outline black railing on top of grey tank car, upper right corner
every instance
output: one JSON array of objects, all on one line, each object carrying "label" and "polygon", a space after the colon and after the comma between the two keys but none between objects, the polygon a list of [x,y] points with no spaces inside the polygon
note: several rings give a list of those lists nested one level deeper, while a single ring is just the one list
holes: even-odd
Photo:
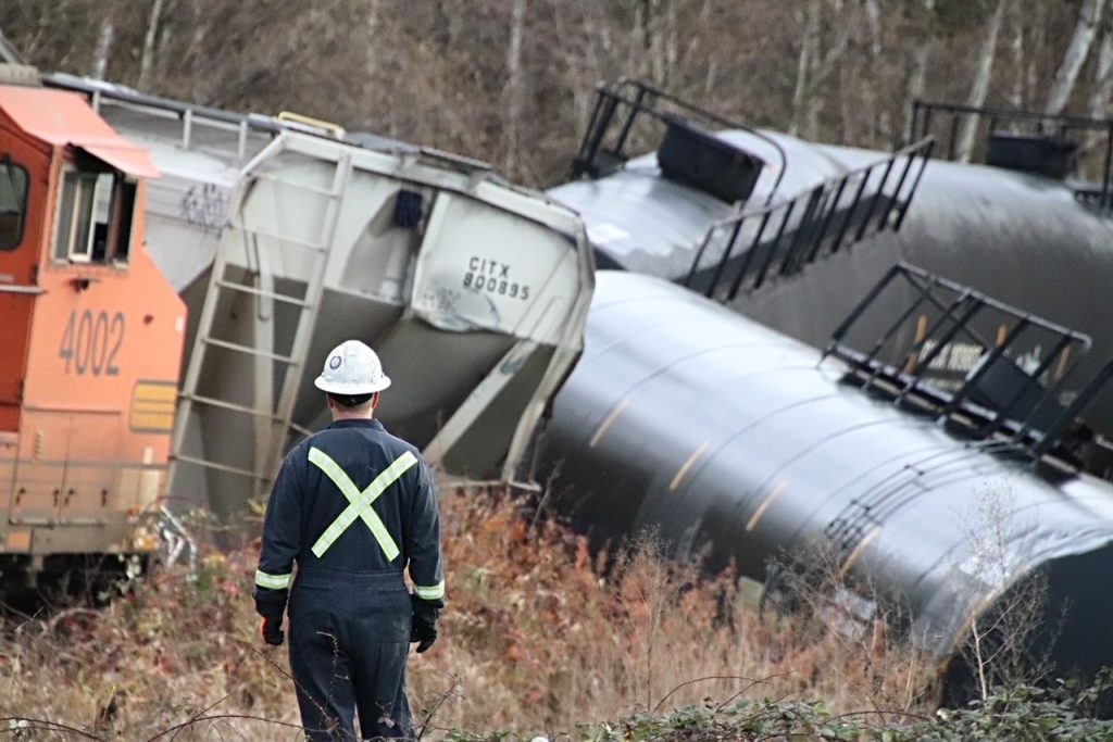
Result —
[{"label": "black railing on top of grey tank car, upper right corner", "polygon": [[[949,126],[947,130],[945,159],[956,160],[959,152],[956,151],[958,140],[959,119],[962,117],[974,117],[988,121],[989,135],[993,136],[999,125],[1034,125],[1035,133],[1047,136],[1053,132],[1060,139],[1066,139],[1077,144],[1072,133],[1078,131],[1093,131],[1103,135],[1104,154],[1102,157],[1102,180],[1097,192],[1085,189],[1075,189],[1075,197],[1083,204],[1094,206],[1102,210],[1113,209],[1113,120],[1094,118],[1089,116],[1071,116],[1063,113],[1045,113],[1016,108],[994,108],[987,106],[968,106],[964,103],[947,103],[916,99],[913,101],[912,119],[908,127],[909,140],[927,136],[932,131],[932,115],[940,112],[948,115]],[[988,158],[987,158],[988,159]],[[1071,166],[1074,169],[1076,162],[1064,160],[1058,164]]]}]

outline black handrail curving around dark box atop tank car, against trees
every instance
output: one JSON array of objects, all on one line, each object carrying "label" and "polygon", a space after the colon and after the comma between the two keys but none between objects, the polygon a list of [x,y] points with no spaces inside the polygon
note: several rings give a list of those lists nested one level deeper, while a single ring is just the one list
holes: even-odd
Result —
[{"label": "black handrail curving around dark box atop tank car, against trees", "polygon": [[[624,95],[623,91],[627,88],[632,89],[633,92],[631,96]],[[595,106],[591,111],[591,119],[588,128],[584,130],[583,139],[580,141],[579,152],[572,160],[570,177],[575,179],[584,174],[592,177],[598,176],[600,174],[598,162],[600,155],[605,156],[607,160],[611,162],[627,161],[629,159],[629,155],[626,152],[627,140],[630,137],[630,131],[638,115],[646,113],[662,123],[669,123],[670,115],[662,112],[658,108],[658,103],[661,101],[671,103],[688,113],[696,115],[705,122],[725,129],[740,129],[746,131],[772,147],[780,160],[777,169],[777,178],[774,180],[772,188],[766,197],[766,204],[772,200],[777,189],[780,188],[785,171],[788,169],[788,156],[785,152],[785,148],[776,139],[745,123],[739,123],[738,121],[713,113],[706,108],[678,98],[648,82],[632,78],[619,78],[613,85],[601,82],[595,87]],[[603,147],[603,140],[607,138],[607,133],[611,128],[611,122],[614,120],[620,105],[629,108],[629,111],[614,146],[608,149]]]}]

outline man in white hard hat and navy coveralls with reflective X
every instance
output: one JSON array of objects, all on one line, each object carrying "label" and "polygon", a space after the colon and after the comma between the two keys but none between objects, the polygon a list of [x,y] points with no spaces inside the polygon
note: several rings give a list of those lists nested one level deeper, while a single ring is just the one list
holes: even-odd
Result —
[{"label": "man in white hard hat and navy coveralls with reflective X", "polygon": [[410,739],[406,654],[411,642],[418,653],[433,644],[444,606],[436,492],[417,449],[374,419],[391,379],[370,347],[341,344],[314,384],[333,424],[287,454],[267,503],[255,573],[263,639],[283,643],[288,593],[311,740],[357,739],[356,710],[362,739]]}]

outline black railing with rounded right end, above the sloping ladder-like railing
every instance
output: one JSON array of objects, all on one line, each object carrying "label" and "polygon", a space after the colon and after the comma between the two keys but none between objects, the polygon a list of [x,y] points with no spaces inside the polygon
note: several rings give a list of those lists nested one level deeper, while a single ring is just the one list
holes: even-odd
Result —
[{"label": "black railing with rounded right end, above the sloping ladder-like railing", "polygon": [[[647,82],[630,79],[597,88],[591,121],[572,160],[571,178],[595,178],[620,167],[632,154],[658,149],[664,135],[662,127],[667,128],[678,118],[707,128],[746,131],[769,145],[779,159],[777,178],[766,200],[772,199],[787,166],[785,150],[776,139]],[[644,123],[650,125],[648,129],[642,126]],[[634,151],[631,154],[631,150]]]}]

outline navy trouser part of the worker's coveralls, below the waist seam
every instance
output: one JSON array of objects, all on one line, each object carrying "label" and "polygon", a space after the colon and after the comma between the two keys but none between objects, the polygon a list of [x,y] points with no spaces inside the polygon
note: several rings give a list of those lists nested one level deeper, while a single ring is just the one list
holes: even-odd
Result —
[{"label": "navy trouser part of the worker's coveralls, below the waist seam", "polygon": [[365,740],[411,733],[410,621],[410,592],[398,572],[298,572],[289,596],[289,664],[311,740],[354,739],[345,719],[353,706]]}]

